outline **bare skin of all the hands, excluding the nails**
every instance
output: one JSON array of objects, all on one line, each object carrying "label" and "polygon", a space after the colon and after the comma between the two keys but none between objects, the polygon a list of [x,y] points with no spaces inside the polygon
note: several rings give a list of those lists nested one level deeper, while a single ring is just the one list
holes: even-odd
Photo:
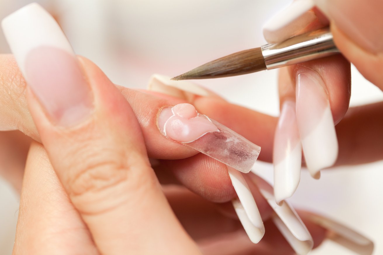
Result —
[{"label": "bare skin of all the hands, excluding the nails", "polygon": [[[382,55],[363,49],[331,17],[330,24],[343,55],[382,89],[381,73],[376,71],[383,68]],[[186,100],[116,87],[89,60],[79,60],[97,98],[97,109],[103,110],[96,110],[79,126],[62,130],[52,124],[27,89],[13,57],[0,56],[0,102],[6,106],[0,108],[0,128],[22,132],[11,131],[0,136],[1,141],[6,141],[0,143],[3,150],[8,148],[7,144],[15,145],[13,151],[8,151],[8,160],[2,163],[9,169],[5,176],[15,187],[20,187],[23,182],[14,254],[26,251],[28,254],[125,254],[128,250],[139,254],[153,254],[155,250],[158,254],[161,249],[171,249],[175,253],[182,250],[182,254],[186,254],[185,247],[190,254],[198,254],[197,245],[204,254],[293,254],[268,220],[271,210],[257,195],[256,189],[254,197],[268,231],[255,246],[241,230],[232,208],[225,203],[235,197],[225,167],[167,140],[156,125],[157,112],[162,106],[190,102],[199,112],[260,145],[260,159],[270,162],[277,118],[217,97],[188,96]],[[348,109],[349,62],[336,56],[284,68],[279,80],[281,102],[295,96],[294,77],[301,68],[317,71],[326,83],[334,122],[337,123],[339,158],[336,164],[361,164],[382,159],[383,104]],[[121,122],[115,123],[116,119]],[[37,128],[34,123],[38,123]],[[111,129],[105,123],[115,123],[116,128]],[[254,132],[254,128],[258,132]],[[89,134],[89,130],[95,131]],[[129,132],[138,135],[131,137],[127,135]],[[68,142],[83,137],[84,133],[87,136],[81,140],[82,143]],[[100,133],[108,135],[100,137]],[[112,139],[109,134],[113,134]],[[34,140],[32,144],[31,140]],[[61,145],[59,149],[55,146],[57,144]],[[110,151],[101,153],[105,148]],[[79,152],[76,157],[72,156],[73,151]],[[96,157],[98,162],[89,162],[85,156],[87,153],[100,155]],[[160,159],[154,171],[148,157]],[[99,167],[91,167],[95,165]],[[206,172],[207,167],[214,171]],[[117,169],[123,169],[133,177],[121,179]],[[90,179],[82,182],[76,179],[76,176],[85,176],[78,175],[80,172],[95,175],[89,174]],[[97,182],[98,177],[106,172],[110,174],[108,178]],[[199,196],[185,188],[165,189],[162,193],[154,173],[163,182],[183,184]],[[192,210],[182,211],[180,201],[196,205],[193,208],[199,208],[201,217],[196,219],[196,213],[190,213]],[[156,213],[148,224],[144,216],[152,216],[153,211]],[[315,245],[319,245],[326,230],[310,223],[304,212],[301,217],[313,235]],[[166,238],[162,226],[166,226]],[[222,235],[223,232],[226,234]],[[134,242],[127,241],[133,239],[132,235]],[[147,247],[147,238],[153,241],[151,247]],[[277,250],[276,244],[280,247]],[[230,247],[241,247],[242,250],[231,250]]]}]

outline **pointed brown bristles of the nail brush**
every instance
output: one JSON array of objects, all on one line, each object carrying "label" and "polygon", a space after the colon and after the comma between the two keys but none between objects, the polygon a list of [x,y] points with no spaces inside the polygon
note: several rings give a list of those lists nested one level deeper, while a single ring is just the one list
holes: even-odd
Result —
[{"label": "pointed brown bristles of the nail brush", "polygon": [[261,48],[242,50],[194,68],[172,80],[221,78],[266,69]]}]

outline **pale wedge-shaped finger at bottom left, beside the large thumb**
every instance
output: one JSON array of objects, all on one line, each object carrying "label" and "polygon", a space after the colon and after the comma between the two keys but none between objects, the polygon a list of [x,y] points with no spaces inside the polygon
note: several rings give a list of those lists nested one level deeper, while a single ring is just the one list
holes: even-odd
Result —
[{"label": "pale wedge-shaped finger at bottom left, beside the large thumb", "polygon": [[32,143],[25,167],[13,254],[99,254],[49,162]]}]

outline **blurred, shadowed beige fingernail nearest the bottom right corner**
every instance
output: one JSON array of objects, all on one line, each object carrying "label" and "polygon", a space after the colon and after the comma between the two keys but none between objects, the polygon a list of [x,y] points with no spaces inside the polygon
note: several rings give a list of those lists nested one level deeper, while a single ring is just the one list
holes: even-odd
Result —
[{"label": "blurred, shadowed beige fingernail nearest the bottom right corner", "polygon": [[309,213],[309,219],[328,230],[327,239],[336,242],[345,248],[352,250],[360,255],[370,255],[374,250],[374,243],[367,237],[350,229],[343,224],[329,218]]}]

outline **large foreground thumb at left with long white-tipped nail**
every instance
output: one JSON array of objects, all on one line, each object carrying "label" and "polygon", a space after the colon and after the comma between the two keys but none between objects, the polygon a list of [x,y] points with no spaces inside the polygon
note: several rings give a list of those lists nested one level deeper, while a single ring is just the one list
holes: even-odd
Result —
[{"label": "large foreground thumb at left with long white-tipped nail", "polygon": [[198,254],[155,179],[141,128],[118,89],[95,65],[77,62],[39,5],[8,16],[3,30],[27,78],[28,106],[49,159],[99,252]]}]

